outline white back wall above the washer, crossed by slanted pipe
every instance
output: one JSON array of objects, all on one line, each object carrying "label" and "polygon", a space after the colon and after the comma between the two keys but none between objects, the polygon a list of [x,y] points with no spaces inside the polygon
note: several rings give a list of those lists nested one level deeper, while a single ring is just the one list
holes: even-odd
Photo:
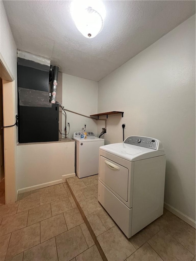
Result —
[{"label": "white back wall above the washer, crossed by slanted pipe", "polygon": [[[62,105],[65,109],[89,116],[97,113],[98,83],[80,77],[62,74]],[[67,122],[70,123],[69,138],[76,131],[81,131],[86,124],[86,130],[97,135],[97,121],[66,112]],[[62,130],[65,129],[65,114],[62,113]],[[69,128],[67,127],[67,132]],[[63,135],[64,137],[64,135]]]}]

